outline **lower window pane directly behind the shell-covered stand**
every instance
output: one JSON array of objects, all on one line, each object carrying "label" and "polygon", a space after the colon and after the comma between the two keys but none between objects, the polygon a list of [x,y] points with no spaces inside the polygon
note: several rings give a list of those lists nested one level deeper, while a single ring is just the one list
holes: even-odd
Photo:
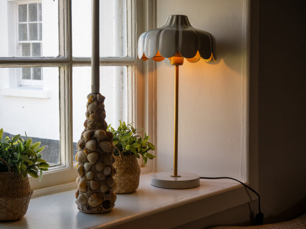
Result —
[{"label": "lower window pane directly behind the shell-covered stand", "polygon": [[[86,119],[86,96],[91,93],[91,67],[73,67],[72,78],[72,111],[73,111],[73,155],[77,149]],[[118,120],[127,122],[127,67],[101,66],[100,92],[105,96],[105,121],[112,126],[118,126]],[[75,158],[73,157],[74,162]]]}]

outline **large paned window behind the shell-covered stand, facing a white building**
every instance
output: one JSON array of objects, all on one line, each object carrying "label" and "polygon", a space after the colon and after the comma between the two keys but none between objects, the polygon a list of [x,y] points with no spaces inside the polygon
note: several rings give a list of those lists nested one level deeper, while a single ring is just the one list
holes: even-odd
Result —
[{"label": "large paned window behind the shell-covered stand, facing a white building", "polygon": [[[100,92],[114,126],[118,119],[142,123],[135,15],[136,0],[100,0]],[[0,106],[9,107],[0,111],[0,127],[47,145],[43,155],[53,167],[40,183],[30,177],[33,189],[72,182],[91,93],[91,2],[3,0],[0,28]]]}]

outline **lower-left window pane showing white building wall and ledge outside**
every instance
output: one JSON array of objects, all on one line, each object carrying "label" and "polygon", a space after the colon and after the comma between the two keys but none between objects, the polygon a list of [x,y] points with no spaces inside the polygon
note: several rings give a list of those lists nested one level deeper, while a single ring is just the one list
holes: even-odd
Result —
[{"label": "lower-left window pane showing white building wall and ledge outside", "polygon": [[[27,89],[23,87],[16,89],[12,78],[20,68],[0,68],[0,106],[7,108],[1,113],[0,127],[5,132],[4,136],[21,134],[23,139],[26,131],[33,142],[40,141],[41,146],[47,146],[42,151],[42,158],[51,165],[57,165],[60,161],[58,68],[42,67],[42,70],[46,82],[43,90],[49,91],[47,99],[27,97],[29,96]],[[18,96],[8,96],[3,93],[3,89],[9,87],[20,90]],[[32,94],[32,96],[37,95]],[[12,120],[14,125],[8,120]]]}]

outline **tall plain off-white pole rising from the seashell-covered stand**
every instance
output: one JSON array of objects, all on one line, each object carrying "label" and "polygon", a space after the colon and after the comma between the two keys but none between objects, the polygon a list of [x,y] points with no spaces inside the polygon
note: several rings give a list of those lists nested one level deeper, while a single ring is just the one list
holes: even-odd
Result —
[{"label": "tall plain off-white pole rising from the seashell-covered stand", "polygon": [[99,93],[99,0],[91,1],[91,93]]}]

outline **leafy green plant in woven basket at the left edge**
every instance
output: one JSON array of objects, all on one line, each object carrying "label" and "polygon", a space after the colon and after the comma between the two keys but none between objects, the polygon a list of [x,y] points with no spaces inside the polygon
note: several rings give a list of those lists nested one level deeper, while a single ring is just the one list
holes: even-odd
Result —
[{"label": "leafy green plant in woven basket at the left edge", "polygon": [[40,142],[32,143],[31,138],[23,140],[20,134],[2,139],[0,129],[0,221],[20,220],[27,212],[33,194],[28,174],[40,180],[49,165],[41,159]]}]

